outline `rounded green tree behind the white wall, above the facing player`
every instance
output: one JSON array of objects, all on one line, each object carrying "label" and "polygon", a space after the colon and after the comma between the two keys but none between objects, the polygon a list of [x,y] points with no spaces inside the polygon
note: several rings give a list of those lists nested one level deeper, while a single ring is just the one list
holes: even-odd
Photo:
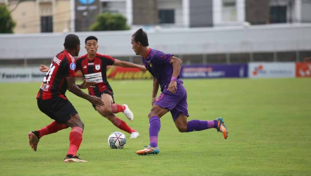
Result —
[{"label": "rounded green tree behind the white wall, above the facing player", "polygon": [[90,30],[129,30],[130,27],[126,21],[126,17],[122,14],[105,12],[97,16],[96,22],[90,26]]}]

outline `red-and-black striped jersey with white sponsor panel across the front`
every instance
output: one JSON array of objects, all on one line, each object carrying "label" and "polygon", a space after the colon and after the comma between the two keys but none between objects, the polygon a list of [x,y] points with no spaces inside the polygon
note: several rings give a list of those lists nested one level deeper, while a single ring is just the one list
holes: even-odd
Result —
[{"label": "red-and-black striped jersey with white sponsor panel across the front", "polygon": [[90,95],[100,97],[104,90],[112,92],[107,81],[107,66],[114,64],[114,58],[96,53],[95,58],[90,60],[87,54],[77,58],[76,71],[81,70],[86,81],[97,82],[95,87],[88,88]]}]

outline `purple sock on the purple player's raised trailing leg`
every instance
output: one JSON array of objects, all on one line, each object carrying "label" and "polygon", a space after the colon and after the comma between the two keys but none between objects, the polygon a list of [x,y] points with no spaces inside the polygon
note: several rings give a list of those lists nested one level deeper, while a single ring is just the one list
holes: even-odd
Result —
[{"label": "purple sock on the purple player's raised trailing leg", "polygon": [[216,120],[210,120],[210,121],[191,120],[187,123],[186,132],[201,131],[201,130],[205,130],[208,128],[217,128],[217,121]]}]

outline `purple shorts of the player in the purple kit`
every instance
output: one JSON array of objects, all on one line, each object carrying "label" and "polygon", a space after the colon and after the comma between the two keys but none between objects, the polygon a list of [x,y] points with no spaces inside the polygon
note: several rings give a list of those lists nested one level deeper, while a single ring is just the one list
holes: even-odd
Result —
[{"label": "purple shorts of the player in the purple kit", "polygon": [[180,114],[184,114],[189,117],[188,114],[188,104],[187,104],[187,91],[182,84],[177,84],[176,93],[171,93],[165,90],[160,94],[156,99],[155,104],[160,106],[163,109],[168,109],[173,117],[173,120],[178,118]]}]

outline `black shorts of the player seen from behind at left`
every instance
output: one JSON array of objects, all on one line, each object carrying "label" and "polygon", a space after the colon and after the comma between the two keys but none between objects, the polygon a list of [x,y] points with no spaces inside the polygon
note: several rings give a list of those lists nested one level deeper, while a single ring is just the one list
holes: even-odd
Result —
[{"label": "black shorts of the player seen from behind at left", "polygon": [[49,100],[37,99],[39,109],[57,123],[66,123],[71,117],[78,112],[69,100],[62,97],[56,97]]}]

